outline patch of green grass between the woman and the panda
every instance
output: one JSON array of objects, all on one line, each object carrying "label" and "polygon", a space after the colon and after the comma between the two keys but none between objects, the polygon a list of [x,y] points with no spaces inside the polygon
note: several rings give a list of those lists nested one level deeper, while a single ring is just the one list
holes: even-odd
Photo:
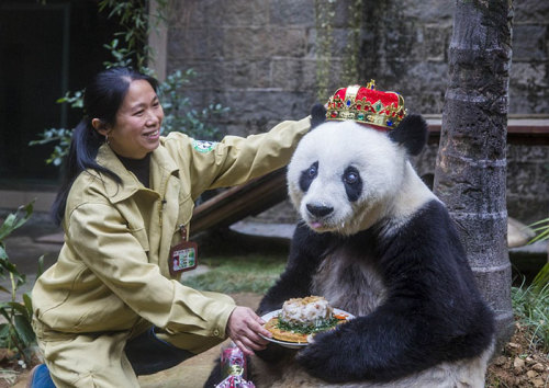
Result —
[{"label": "patch of green grass between the woman and the panda", "polygon": [[201,263],[210,271],[195,276],[183,275],[182,282],[195,289],[223,294],[265,294],[278,279],[285,260],[285,255],[211,256]]}]

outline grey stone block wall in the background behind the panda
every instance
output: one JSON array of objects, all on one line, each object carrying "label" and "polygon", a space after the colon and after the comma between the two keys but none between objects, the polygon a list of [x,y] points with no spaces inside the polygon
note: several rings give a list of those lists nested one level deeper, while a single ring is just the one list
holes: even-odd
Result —
[{"label": "grey stone block wall in the background behind the panda", "polygon": [[[328,1],[321,1],[324,5]],[[351,3],[334,5],[328,90],[343,87],[352,31]],[[452,32],[452,0],[363,1],[355,82],[376,79],[381,90],[404,95],[412,112],[441,114]],[[549,2],[516,0],[509,114],[549,113]],[[195,106],[220,102],[231,113],[219,125],[233,135],[268,130],[301,118],[316,101],[314,0],[180,0],[168,28],[168,73],[193,68],[187,94]],[[416,160],[434,172],[437,146]],[[509,145],[508,213],[524,222],[549,214],[549,148]],[[281,216],[283,214],[284,216]],[[293,221],[288,204],[264,217]]]}]

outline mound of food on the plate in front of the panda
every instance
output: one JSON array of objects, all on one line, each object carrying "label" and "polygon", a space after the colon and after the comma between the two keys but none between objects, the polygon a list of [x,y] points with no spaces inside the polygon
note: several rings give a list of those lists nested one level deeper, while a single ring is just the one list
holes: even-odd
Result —
[{"label": "mound of food on the plate in front of the panda", "polygon": [[276,340],[306,343],[310,335],[334,329],[347,318],[345,312],[335,315],[324,297],[307,296],[284,301],[280,313],[267,321],[265,328]]}]

